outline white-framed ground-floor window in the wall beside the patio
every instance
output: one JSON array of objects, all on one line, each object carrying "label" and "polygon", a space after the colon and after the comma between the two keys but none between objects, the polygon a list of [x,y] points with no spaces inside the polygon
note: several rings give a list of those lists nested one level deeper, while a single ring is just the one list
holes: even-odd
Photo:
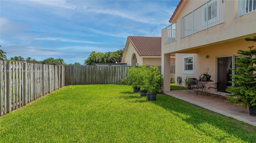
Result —
[{"label": "white-framed ground-floor window in the wall beside the patio", "polygon": [[194,74],[194,54],[183,56],[183,73]]}]

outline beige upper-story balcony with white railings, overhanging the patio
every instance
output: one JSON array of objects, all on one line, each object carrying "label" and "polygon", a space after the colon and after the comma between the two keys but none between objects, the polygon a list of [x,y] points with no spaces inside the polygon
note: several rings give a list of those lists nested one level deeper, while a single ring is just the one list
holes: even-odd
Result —
[{"label": "beige upper-story balcony with white railings, overhanging the patio", "polygon": [[[173,23],[162,29],[162,53],[195,53],[199,48],[255,36],[256,0],[210,0],[201,4],[182,9],[187,14],[177,13]],[[244,6],[248,11],[239,16]]]}]

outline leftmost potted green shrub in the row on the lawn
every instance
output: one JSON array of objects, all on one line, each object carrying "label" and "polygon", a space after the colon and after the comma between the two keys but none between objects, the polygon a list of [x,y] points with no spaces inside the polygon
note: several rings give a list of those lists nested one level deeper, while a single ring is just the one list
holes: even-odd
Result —
[{"label": "leftmost potted green shrub in the row on the lawn", "polygon": [[139,92],[140,84],[139,84],[139,70],[135,66],[128,68],[127,78],[130,80],[129,85],[132,85],[133,92]]}]

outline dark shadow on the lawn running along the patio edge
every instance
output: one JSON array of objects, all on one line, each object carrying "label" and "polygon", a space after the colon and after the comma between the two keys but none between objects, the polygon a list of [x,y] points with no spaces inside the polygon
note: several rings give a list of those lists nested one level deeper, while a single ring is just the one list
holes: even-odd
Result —
[{"label": "dark shadow on the lawn running along the patio edge", "polygon": [[[227,141],[232,135],[243,141],[255,141],[256,127],[237,121],[236,119],[220,115],[165,94],[158,94],[157,100],[152,103],[168,110],[171,114],[176,115],[183,121],[186,121],[188,124],[193,125],[198,130],[203,131],[208,136],[220,142]],[[229,136],[220,136],[213,130],[202,129],[202,125],[205,123],[224,131],[224,133],[228,133]]]}]

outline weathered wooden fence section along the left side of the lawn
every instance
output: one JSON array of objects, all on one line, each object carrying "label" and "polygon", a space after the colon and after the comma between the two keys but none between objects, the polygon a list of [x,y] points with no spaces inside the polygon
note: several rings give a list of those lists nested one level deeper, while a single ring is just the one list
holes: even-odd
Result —
[{"label": "weathered wooden fence section along the left side of the lawn", "polygon": [[0,61],[0,116],[65,86],[65,67]]}]

